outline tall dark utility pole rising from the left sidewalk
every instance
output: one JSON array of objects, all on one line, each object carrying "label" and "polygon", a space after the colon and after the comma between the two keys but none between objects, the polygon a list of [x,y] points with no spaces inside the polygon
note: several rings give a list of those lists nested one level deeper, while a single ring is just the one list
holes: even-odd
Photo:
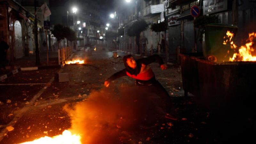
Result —
[{"label": "tall dark utility pole rising from the left sidewalk", "polygon": [[37,17],[36,17],[36,0],[34,0],[35,6],[35,26],[34,26],[34,35],[35,35],[35,43],[36,43],[36,65],[40,65],[39,58],[39,48],[38,48],[38,36],[37,36]]}]

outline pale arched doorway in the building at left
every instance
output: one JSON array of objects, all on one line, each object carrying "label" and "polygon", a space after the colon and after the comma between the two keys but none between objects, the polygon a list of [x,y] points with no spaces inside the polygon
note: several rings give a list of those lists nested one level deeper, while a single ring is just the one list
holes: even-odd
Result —
[{"label": "pale arched doorway in the building at left", "polygon": [[24,55],[23,48],[22,48],[22,34],[21,34],[21,24],[20,21],[16,20],[14,22],[14,36],[15,36],[15,58],[22,58]]}]

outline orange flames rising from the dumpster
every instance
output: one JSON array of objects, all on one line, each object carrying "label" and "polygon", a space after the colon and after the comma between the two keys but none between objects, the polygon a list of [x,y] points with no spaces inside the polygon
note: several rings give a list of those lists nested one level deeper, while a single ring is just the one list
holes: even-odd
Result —
[{"label": "orange flames rising from the dumpster", "polygon": [[[234,34],[230,31],[227,31],[227,36],[224,36],[223,44],[230,44],[230,48],[234,49],[233,57],[229,58],[229,61],[256,61],[256,56],[252,55],[254,52],[255,45],[254,42],[256,41],[256,33],[249,33],[249,38],[247,39],[247,43],[242,45],[241,47],[237,47],[236,44],[233,42],[232,38]],[[254,47],[253,47],[254,46]],[[228,53],[230,51],[228,50]]]}]

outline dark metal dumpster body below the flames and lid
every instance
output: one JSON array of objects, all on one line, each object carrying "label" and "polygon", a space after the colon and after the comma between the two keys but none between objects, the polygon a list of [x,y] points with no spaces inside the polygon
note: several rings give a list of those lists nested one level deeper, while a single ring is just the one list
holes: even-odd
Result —
[{"label": "dark metal dumpster body below the flames and lid", "polygon": [[212,62],[201,54],[180,54],[185,95],[221,115],[255,116],[256,62]]}]

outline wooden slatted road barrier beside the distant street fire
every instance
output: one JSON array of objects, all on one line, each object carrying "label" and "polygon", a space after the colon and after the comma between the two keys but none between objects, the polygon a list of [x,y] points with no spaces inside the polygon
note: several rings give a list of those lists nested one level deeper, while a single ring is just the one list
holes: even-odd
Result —
[{"label": "wooden slatted road barrier beside the distant street fire", "polygon": [[73,53],[73,49],[71,47],[64,47],[64,48],[58,49],[59,65],[65,62],[71,56],[72,53]]}]

